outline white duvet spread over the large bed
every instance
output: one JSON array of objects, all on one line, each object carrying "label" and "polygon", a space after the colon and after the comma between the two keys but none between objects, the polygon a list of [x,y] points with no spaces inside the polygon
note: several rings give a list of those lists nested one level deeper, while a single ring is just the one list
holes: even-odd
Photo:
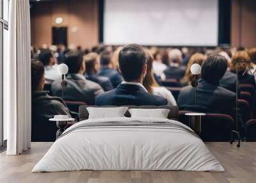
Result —
[{"label": "white duvet spread over the large bed", "polygon": [[[83,127],[88,123],[153,123]],[[159,126],[156,123],[159,122]],[[173,127],[161,126],[168,122]],[[84,120],[57,139],[32,172],[73,170],[225,171],[204,142],[180,122],[160,118]]]}]

